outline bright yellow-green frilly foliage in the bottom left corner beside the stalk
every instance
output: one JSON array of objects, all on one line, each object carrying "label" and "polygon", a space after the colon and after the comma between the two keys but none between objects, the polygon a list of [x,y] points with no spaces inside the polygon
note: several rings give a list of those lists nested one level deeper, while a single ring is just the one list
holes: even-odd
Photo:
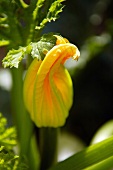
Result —
[{"label": "bright yellow-green frilly foliage in the bottom left corner beside the stalk", "polygon": [[20,170],[28,169],[25,160],[15,155],[13,147],[17,145],[15,127],[7,128],[7,119],[0,113],[0,169]]}]

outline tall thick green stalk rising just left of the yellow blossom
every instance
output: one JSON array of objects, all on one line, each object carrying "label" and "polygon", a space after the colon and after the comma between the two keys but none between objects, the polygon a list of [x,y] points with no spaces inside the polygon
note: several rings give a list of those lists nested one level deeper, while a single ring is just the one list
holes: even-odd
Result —
[{"label": "tall thick green stalk rising just left of the yellow blossom", "polygon": [[29,152],[30,138],[33,132],[33,124],[29,114],[26,112],[23,102],[22,65],[20,65],[18,69],[13,68],[11,72],[13,79],[12,108],[20,142],[20,153],[21,155],[27,155]]}]

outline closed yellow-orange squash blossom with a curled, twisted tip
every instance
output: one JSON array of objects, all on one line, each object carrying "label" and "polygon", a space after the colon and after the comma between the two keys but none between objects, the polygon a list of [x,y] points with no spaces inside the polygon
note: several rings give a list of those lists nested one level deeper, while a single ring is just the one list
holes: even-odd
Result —
[{"label": "closed yellow-orange squash blossom with a curled, twisted tip", "polygon": [[73,102],[73,86],[64,62],[80,52],[67,39],[55,35],[56,45],[44,60],[35,58],[24,80],[24,101],[38,127],[63,126]]}]

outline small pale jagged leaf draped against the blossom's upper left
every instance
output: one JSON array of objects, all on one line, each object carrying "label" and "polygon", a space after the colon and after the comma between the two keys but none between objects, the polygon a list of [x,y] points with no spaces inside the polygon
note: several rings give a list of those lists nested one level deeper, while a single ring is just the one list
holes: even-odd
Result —
[{"label": "small pale jagged leaf draped against the blossom's upper left", "polygon": [[53,33],[43,35],[38,42],[30,43],[26,47],[20,47],[18,50],[10,50],[3,59],[4,67],[18,68],[21,60],[26,54],[31,54],[33,58],[43,60],[45,54],[56,44],[56,37]]}]

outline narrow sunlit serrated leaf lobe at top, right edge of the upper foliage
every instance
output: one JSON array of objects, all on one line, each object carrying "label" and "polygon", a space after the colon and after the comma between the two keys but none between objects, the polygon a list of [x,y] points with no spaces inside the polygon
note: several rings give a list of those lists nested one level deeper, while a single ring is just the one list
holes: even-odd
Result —
[{"label": "narrow sunlit serrated leaf lobe at top, right edge of the upper foliage", "polygon": [[61,4],[64,0],[56,0],[54,1],[49,11],[46,15],[46,17],[42,20],[39,26],[36,26],[35,29],[42,29],[48,22],[55,21],[59,17],[59,13],[62,12],[63,5]]}]

